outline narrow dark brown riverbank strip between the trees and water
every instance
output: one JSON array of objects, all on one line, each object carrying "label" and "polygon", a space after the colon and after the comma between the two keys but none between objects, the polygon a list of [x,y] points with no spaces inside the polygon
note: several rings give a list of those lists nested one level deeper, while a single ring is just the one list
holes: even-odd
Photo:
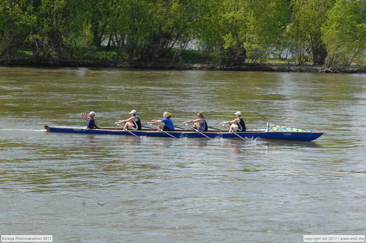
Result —
[{"label": "narrow dark brown riverbank strip between the trees and water", "polygon": [[224,71],[268,71],[268,72],[333,72],[333,73],[366,73],[366,66],[354,65],[347,68],[335,67],[325,70],[322,66],[285,63],[260,63],[241,65],[214,62],[171,63],[167,61],[126,61],[126,60],[58,60],[57,64],[49,61],[34,63],[30,59],[3,59],[1,66],[55,66],[55,67],[110,67],[110,68],[146,68],[170,70],[224,70]]}]

